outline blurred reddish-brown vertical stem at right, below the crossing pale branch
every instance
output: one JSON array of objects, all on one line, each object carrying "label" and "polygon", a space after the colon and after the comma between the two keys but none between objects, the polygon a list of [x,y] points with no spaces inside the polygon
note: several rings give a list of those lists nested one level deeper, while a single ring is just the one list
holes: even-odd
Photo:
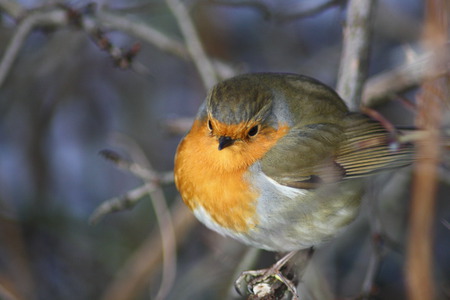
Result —
[{"label": "blurred reddish-brown vertical stem at right, below the crossing pale branch", "polygon": [[[426,129],[439,127],[440,98],[433,95],[433,82],[426,82],[417,97],[419,104],[418,123]],[[442,98],[441,98],[442,99]],[[439,99],[439,100],[441,100]],[[432,267],[432,224],[434,198],[437,186],[437,165],[439,163],[439,135],[430,134],[417,143],[413,198],[410,211],[410,233],[406,265],[406,278],[411,299],[434,299]],[[420,159],[426,157],[426,159]]]}]

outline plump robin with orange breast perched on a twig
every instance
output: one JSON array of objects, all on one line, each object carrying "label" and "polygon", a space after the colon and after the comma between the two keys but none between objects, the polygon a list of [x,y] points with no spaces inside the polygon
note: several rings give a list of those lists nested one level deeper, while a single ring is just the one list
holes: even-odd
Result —
[{"label": "plump robin with orange breast perched on a twig", "polygon": [[302,75],[218,83],[175,156],[175,184],[210,229],[257,248],[319,245],[357,216],[364,178],[407,165],[378,121]]}]

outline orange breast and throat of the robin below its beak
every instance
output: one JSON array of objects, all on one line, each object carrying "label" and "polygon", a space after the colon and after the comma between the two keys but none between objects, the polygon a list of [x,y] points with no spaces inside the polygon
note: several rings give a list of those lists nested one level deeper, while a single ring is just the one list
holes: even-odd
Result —
[{"label": "orange breast and throat of the robin below its beak", "polygon": [[286,134],[287,127],[263,130],[257,141],[240,141],[219,151],[205,122],[194,122],[175,156],[175,184],[189,208],[203,207],[217,224],[235,232],[257,225],[258,192],[244,174]]}]

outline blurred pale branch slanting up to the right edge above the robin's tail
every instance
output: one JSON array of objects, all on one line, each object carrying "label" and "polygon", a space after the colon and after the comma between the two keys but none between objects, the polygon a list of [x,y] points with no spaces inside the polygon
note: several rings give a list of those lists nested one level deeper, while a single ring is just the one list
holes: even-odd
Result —
[{"label": "blurred pale branch slanting up to the right edge above the robin's tail", "polygon": [[[445,44],[439,49],[428,51],[414,57],[403,65],[375,75],[366,82],[363,106],[377,106],[394,99],[398,94],[417,87],[424,80],[450,73],[450,48]],[[436,59],[439,63],[435,63]]]}]

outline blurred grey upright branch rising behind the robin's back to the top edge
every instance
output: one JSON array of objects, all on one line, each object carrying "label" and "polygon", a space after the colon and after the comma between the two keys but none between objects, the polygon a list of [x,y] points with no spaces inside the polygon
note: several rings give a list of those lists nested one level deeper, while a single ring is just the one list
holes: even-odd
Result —
[{"label": "blurred grey upright branch rising behind the robin's back to the top edge", "polygon": [[375,0],[350,0],[337,82],[337,92],[350,110],[359,108],[367,76]]}]

